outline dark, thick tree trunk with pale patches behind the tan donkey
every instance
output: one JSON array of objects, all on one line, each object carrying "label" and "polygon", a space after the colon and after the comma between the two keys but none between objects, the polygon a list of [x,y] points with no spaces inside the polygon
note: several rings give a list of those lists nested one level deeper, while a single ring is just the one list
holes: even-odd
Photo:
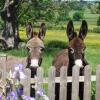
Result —
[{"label": "dark, thick tree trunk with pale patches behind the tan donkey", "polygon": [[[1,12],[1,18],[5,23],[2,37],[12,42],[12,47],[18,47],[19,30],[18,30],[18,4],[19,0],[6,0]],[[9,46],[9,44],[8,44]]]}]

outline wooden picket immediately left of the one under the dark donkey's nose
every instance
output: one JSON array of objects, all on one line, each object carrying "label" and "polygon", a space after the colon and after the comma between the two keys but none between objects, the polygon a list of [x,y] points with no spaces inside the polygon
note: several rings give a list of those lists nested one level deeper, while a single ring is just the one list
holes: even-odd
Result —
[{"label": "wooden picket immediately left of the one under the dark donkey's nose", "polygon": [[60,100],[66,100],[67,97],[67,66],[60,70]]}]

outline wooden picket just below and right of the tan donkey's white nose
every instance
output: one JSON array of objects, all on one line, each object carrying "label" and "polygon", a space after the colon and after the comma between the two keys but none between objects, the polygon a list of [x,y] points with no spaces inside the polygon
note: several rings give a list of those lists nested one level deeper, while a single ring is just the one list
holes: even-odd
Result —
[{"label": "wooden picket just below and right of the tan donkey's white nose", "polygon": [[[42,67],[39,67],[37,68],[37,75],[36,75],[36,92],[37,91],[40,91],[40,90],[43,90],[43,68]],[[36,94],[36,100],[38,100],[38,95],[37,93]]]}]

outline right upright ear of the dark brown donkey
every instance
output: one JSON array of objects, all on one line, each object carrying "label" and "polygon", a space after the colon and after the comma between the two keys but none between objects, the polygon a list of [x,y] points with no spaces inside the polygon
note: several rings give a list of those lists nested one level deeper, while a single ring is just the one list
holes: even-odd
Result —
[{"label": "right upright ear of the dark brown donkey", "polygon": [[87,22],[85,20],[82,21],[82,25],[80,28],[80,32],[79,32],[79,37],[84,40],[84,38],[87,35],[87,31],[88,31],[88,25]]}]

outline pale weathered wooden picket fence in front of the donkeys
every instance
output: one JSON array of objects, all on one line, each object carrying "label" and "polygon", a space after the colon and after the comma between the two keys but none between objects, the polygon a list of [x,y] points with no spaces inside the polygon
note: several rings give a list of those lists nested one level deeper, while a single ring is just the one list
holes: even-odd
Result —
[{"label": "pale weathered wooden picket fence in front of the donkeys", "polygon": [[[2,56],[2,60],[6,62],[6,56]],[[6,63],[3,63],[2,73],[3,79],[6,79]],[[50,100],[55,100],[55,83],[60,83],[60,100],[66,100],[67,83],[72,82],[72,100],[78,100],[79,82],[84,82],[84,100],[91,100],[91,82],[96,81],[96,99],[100,100],[100,65],[96,68],[96,75],[91,75],[91,66],[86,66],[84,70],[84,76],[79,76],[79,67],[73,66],[72,77],[67,76],[67,68],[63,66],[61,68],[60,77],[55,76],[55,67],[50,67],[48,71],[48,77],[44,77],[43,67],[37,69],[37,75],[33,79],[31,78],[31,72],[29,69],[25,69],[24,72],[27,75],[27,79],[21,80],[24,86],[24,94],[30,95],[30,84],[35,83],[36,91],[42,89],[43,84],[48,84],[48,97]]]}]

